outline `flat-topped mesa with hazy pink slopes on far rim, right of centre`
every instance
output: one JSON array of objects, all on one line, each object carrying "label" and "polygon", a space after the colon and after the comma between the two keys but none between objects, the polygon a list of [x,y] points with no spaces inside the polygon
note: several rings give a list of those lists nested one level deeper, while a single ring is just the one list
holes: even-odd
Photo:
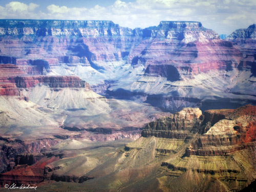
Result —
[{"label": "flat-topped mesa with hazy pink slopes on far rim, right of centre", "polygon": [[[168,68],[170,65],[169,68],[174,66],[180,74],[184,74],[185,69],[186,74],[205,73],[209,70],[228,71],[234,65],[233,60],[239,59],[241,55],[231,42],[221,40],[217,33],[202,27],[199,22],[160,22],[158,27],[146,28],[144,31],[150,33],[148,36],[152,38],[151,42],[133,58],[132,64],[143,63],[146,68],[150,65],[151,68],[158,65],[167,65]],[[221,52],[217,52],[217,49]],[[145,73],[151,71],[154,75],[158,71],[155,68]],[[177,71],[175,68],[171,71]],[[167,77],[167,80],[179,78]]]}]

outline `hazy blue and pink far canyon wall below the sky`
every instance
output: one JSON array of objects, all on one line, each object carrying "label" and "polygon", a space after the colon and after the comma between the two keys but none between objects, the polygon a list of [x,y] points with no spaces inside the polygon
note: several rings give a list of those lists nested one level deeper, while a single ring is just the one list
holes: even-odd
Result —
[{"label": "hazy blue and pink far canyon wall below the sky", "polygon": [[234,109],[255,103],[248,89],[255,88],[253,26],[222,40],[200,22],[129,29],[111,21],[2,19],[0,62],[30,75],[77,75],[106,97],[171,112]]}]

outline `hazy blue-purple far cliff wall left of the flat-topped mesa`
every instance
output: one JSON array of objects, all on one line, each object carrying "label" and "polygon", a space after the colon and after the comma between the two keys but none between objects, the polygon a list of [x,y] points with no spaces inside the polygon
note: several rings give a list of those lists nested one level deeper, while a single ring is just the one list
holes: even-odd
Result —
[{"label": "hazy blue-purple far cliff wall left of the flat-topped mesa", "polygon": [[[39,67],[48,63],[50,66],[83,63],[101,69],[94,61],[118,61],[126,54],[125,49],[131,49],[130,41],[140,38],[131,39],[136,30],[119,27],[111,21],[1,20],[0,26],[0,49],[6,56],[3,62]],[[7,36],[12,38],[7,40]]]}]

